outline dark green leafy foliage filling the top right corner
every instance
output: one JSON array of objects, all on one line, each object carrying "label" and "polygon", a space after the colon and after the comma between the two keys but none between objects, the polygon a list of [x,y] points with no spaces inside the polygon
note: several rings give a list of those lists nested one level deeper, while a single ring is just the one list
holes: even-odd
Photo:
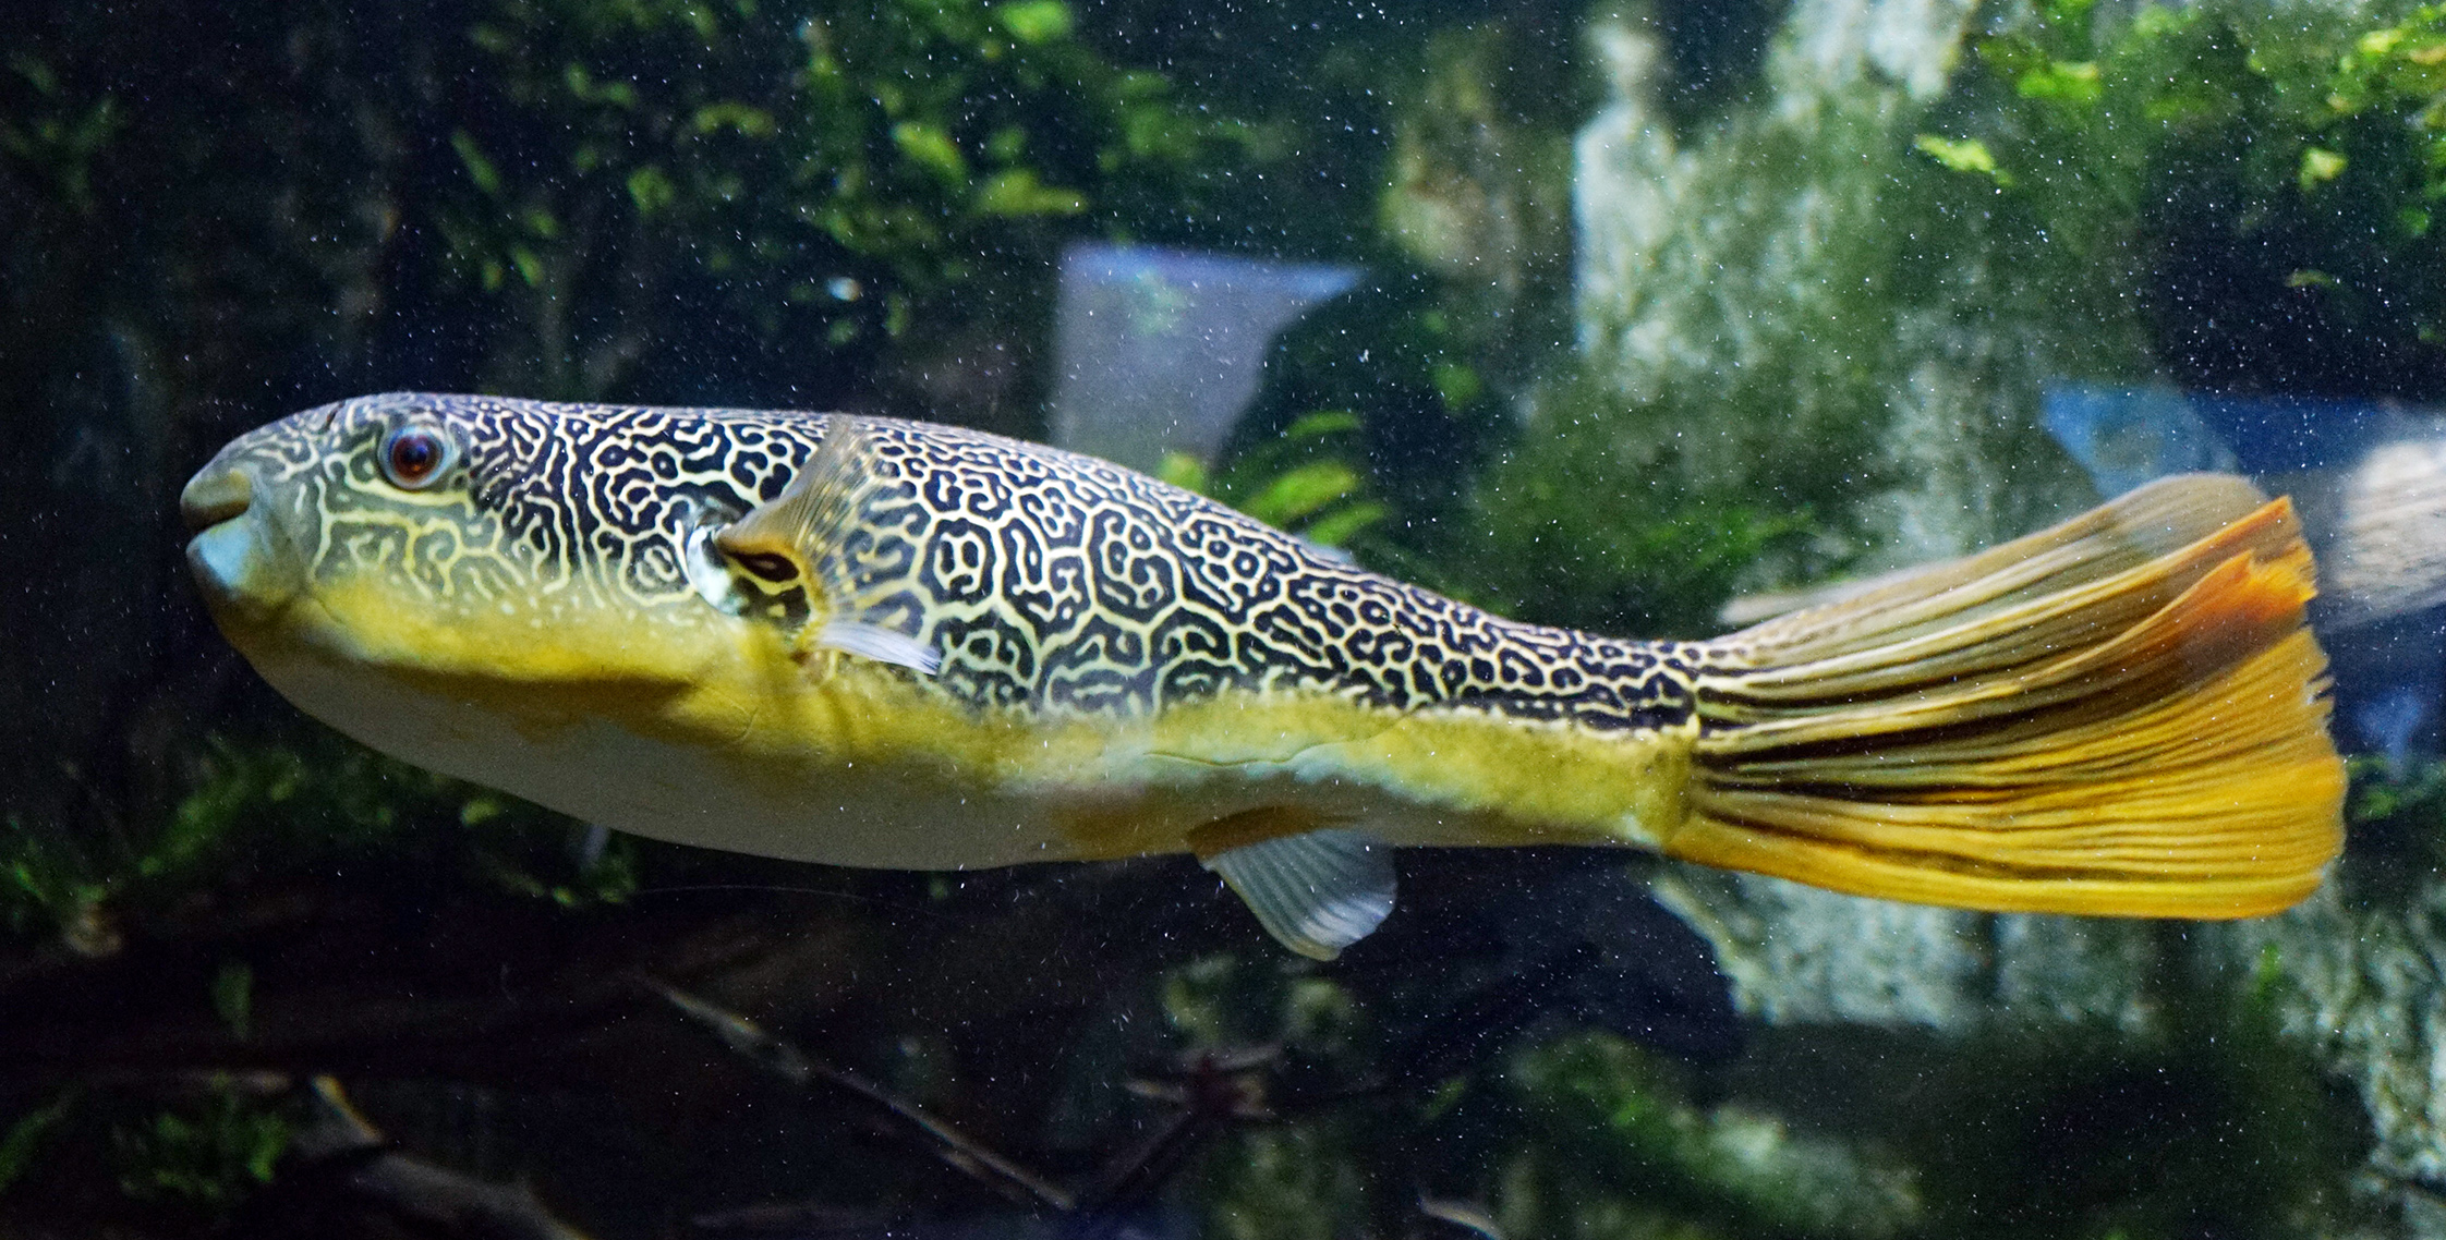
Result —
[{"label": "dark green leafy foliage filling the top right corner", "polygon": [[2409,394],[2446,374],[2439,5],[2050,2],[1976,44],[1947,113],[1969,137],[1920,149],[2101,293],[2155,281],[2184,379]]}]

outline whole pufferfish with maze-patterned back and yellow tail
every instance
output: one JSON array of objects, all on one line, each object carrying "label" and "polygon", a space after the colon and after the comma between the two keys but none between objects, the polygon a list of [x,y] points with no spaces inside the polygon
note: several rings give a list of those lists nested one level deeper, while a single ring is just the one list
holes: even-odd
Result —
[{"label": "whole pufferfish with maze-patterned back and yellow tail", "polygon": [[1093,457],[844,413],[364,396],[181,506],[223,633],[379,751],[832,866],[1186,851],[1318,959],[1392,912],[1392,849],[2250,917],[2341,846],[2309,550],[2236,477],[1715,641],[1502,619]]}]

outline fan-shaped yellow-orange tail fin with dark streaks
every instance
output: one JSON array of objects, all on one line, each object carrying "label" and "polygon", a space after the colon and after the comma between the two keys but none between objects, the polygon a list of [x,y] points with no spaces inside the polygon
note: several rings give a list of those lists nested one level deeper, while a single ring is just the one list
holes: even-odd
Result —
[{"label": "fan-shaped yellow-orange tail fin with dark streaks", "polygon": [[1996,912],[2255,917],[2343,846],[2292,506],[2187,474],[1744,629],[1666,851]]}]

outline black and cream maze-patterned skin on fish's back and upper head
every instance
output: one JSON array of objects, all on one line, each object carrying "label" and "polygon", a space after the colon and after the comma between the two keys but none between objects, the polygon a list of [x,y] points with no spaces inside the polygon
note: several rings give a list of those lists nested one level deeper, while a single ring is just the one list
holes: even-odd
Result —
[{"label": "black and cream maze-patterned skin on fish's back and upper head", "polygon": [[[399,492],[399,426],[455,443]],[[323,511],[313,560],[435,604],[577,589],[704,607],[690,536],[778,499],[839,413],[364,396],[257,430]],[[856,418],[861,482],[832,563],[868,624],[939,653],[912,680],[981,712],[1145,717],[1223,692],[1323,692],[1587,729],[1671,729],[1705,646],[1490,616],[1115,465],[949,426]],[[700,538],[702,541],[702,538]]]}]

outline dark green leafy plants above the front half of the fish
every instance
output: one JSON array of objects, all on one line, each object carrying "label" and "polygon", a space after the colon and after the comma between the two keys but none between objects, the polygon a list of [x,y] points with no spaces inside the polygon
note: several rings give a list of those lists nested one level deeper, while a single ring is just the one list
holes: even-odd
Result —
[{"label": "dark green leafy plants above the front half of the fish", "polygon": [[[1245,154],[1243,125],[1071,27],[1059,0],[501,0],[470,32],[494,105],[453,135],[462,186],[435,208],[450,274],[563,333],[558,298],[638,279],[709,279],[829,350],[959,318],[1062,237],[1125,230],[1115,188]],[[545,386],[612,379],[580,369]]]}]

